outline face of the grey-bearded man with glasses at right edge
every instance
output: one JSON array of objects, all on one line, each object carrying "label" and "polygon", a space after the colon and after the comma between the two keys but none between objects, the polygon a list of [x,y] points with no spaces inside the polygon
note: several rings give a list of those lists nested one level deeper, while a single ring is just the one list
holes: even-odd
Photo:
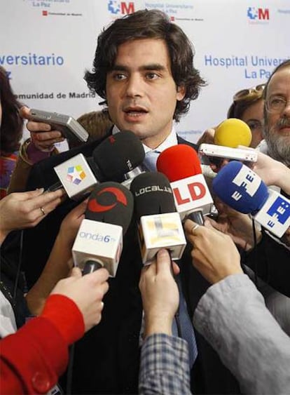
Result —
[{"label": "face of the grey-bearded man with glasses at right edge", "polygon": [[270,80],[266,101],[284,100],[281,111],[267,111],[265,116],[265,140],[269,154],[290,166],[290,66],[276,72]]}]

